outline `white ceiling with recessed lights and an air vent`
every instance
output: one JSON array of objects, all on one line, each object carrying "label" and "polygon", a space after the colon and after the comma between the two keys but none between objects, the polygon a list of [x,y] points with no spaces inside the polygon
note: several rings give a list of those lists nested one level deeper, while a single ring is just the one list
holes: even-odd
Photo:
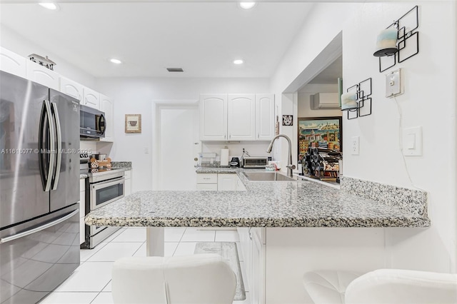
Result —
[{"label": "white ceiling with recessed lights and an air vent", "polygon": [[[58,11],[2,3],[0,24],[95,77],[270,77],[313,6],[75,2],[60,3]],[[111,64],[113,57],[123,63]],[[245,64],[235,66],[233,59]]]}]

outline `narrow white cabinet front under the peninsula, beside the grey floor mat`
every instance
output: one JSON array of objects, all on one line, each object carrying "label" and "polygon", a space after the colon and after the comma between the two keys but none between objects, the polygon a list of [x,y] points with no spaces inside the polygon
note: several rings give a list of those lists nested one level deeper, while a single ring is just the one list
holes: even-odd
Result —
[{"label": "narrow white cabinet front under the peninsula, beside the grey floor mat", "polygon": [[265,303],[266,228],[237,228],[251,304]]}]

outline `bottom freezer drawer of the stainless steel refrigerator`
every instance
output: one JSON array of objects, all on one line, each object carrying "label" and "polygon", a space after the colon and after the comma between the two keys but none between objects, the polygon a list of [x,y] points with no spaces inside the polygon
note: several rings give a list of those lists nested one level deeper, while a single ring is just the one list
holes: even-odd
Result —
[{"label": "bottom freezer drawer of the stainless steel refrigerator", "polygon": [[38,303],[79,266],[79,209],[0,239],[0,303]]}]

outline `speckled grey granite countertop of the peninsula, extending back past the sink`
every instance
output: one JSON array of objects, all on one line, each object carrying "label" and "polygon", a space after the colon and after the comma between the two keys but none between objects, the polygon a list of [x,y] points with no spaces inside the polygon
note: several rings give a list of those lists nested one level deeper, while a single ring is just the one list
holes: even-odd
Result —
[{"label": "speckled grey granite countertop of the peninsula, extending back past the sink", "polygon": [[[246,169],[197,169],[197,173],[240,171]],[[312,181],[253,182],[238,176],[246,191],[141,191],[92,211],[85,221],[96,226],[151,227],[430,226],[426,215]]]}]

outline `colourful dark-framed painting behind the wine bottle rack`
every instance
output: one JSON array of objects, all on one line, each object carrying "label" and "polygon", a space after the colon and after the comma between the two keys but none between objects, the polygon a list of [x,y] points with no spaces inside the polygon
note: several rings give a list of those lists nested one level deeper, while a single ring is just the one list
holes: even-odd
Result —
[{"label": "colourful dark-framed painting behind the wine bottle rack", "polygon": [[341,116],[298,118],[298,158],[308,148],[327,148],[342,152]]}]

